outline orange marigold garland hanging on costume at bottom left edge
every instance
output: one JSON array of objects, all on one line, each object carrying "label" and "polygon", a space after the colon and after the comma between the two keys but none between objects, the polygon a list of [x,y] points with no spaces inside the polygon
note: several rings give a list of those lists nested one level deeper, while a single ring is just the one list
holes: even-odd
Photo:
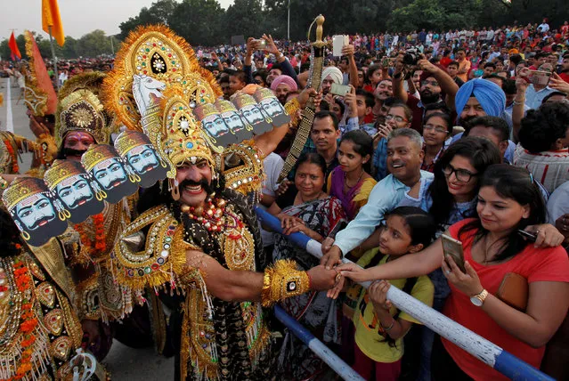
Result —
[{"label": "orange marigold garland hanging on costume at bottom left edge", "polygon": [[[22,260],[16,259],[13,264],[14,280],[16,281],[16,288],[22,294],[26,294],[32,288],[32,279],[29,276],[28,267]],[[33,293],[31,294],[33,295]],[[16,376],[13,379],[22,379],[32,369],[32,356],[34,351],[32,345],[36,342],[36,336],[33,332],[37,328],[37,318],[34,313],[33,301],[24,299],[21,305],[21,323],[19,331],[23,335],[23,340],[20,342],[22,352],[20,356],[20,364],[16,369]]]}]

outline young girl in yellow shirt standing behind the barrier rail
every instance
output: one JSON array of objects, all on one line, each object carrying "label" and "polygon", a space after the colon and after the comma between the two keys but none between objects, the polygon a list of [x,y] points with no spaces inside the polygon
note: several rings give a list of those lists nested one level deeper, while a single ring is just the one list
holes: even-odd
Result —
[{"label": "young girl in yellow shirt standing behind the barrier rail", "polygon": [[[404,255],[415,256],[430,244],[435,223],[419,207],[397,207],[386,217],[386,226],[379,238],[379,252],[371,260],[362,257],[360,264],[382,265]],[[375,263],[375,264],[372,264]],[[371,267],[370,272],[373,268]],[[421,302],[433,303],[434,288],[427,276],[414,280],[391,280],[396,288],[407,288]],[[354,370],[370,380],[397,380],[402,371],[403,336],[412,324],[420,324],[405,312],[399,312],[386,299],[390,282],[376,281],[368,291],[361,289],[354,309]],[[350,290],[354,295],[354,289]],[[371,303],[370,303],[371,302]]]}]

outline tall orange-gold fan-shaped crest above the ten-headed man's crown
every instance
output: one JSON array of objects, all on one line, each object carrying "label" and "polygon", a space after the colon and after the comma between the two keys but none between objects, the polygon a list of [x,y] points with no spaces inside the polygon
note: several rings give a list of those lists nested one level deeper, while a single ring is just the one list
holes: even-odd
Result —
[{"label": "tall orange-gold fan-shaped crest above the ten-headed man's crown", "polygon": [[147,100],[135,100],[138,95],[133,92],[133,83],[145,77],[156,80],[141,83],[150,93],[159,89],[155,87],[157,82],[166,88],[180,86],[183,100],[191,108],[213,103],[222,95],[215,77],[199,66],[190,45],[163,25],[139,27],[131,32],[117,53],[114,69],[104,81],[105,106],[129,129],[142,130],[139,122],[143,115],[137,103]]}]

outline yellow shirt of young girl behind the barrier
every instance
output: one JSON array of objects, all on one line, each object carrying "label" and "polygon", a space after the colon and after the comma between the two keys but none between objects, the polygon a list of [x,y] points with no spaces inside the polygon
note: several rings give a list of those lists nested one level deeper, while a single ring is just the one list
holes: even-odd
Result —
[{"label": "yellow shirt of young girl behind the barrier", "polygon": [[[412,255],[412,254],[409,254]],[[386,263],[386,255],[379,261],[378,265]],[[405,285],[405,279],[400,280],[389,280],[392,286],[396,288],[403,288]],[[411,290],[411,296],[419,301],[427,304],[428,306],[433,305],[433,295],[435,293],[435,288],[431,280],[428,279],[427,275],[422,275],[415,283],[415,286]],[[393,307],[391,309],[391,315],[394,316],[397,309]],[[412,323],[420,324],[418,320],[413,319],[410,315],[405,312],[399,314],[399,319],[407,320]],[[394,346],[389,346],[386,342],[385,337],[379,335],[379,320],[373,311],[373,304],[370,302],[370,296],[367,292],[362,292],[360,299],[358,301],[358,306],[354,313],[354,326],[355,326],[355,343],[358,345],[362,353],[368,356],[371,360],[376,362],[394,362],[402,358],[403,355],[403,339],[399,338],[395,340]]]}]

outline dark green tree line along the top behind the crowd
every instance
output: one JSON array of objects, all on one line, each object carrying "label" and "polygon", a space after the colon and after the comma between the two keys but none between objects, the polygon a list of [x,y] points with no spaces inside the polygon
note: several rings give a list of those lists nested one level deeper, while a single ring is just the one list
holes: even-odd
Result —
[{"label": "dark green tree line along the top behind the crowd", "polygon": [[[67,36],[65,45],[55,46],[55,54],[68,59],[110,54],[131,30],[153,23],[167,24],[191,45],[230,44],[235,35],[287,38],[289,7],[292,41],[305,40],[320,13],[327,19],[327,35],[498,27],[540,23],[543,17],[556,28],[569,20],[565,0],[234,0],[226,10],[216,0],[158,0],[122,22],[117,36],[102,30],[78,39]],[[49,40],[41,35],[36,39],[42,55],[51,57]],[[25,55],[24,37],[18,36],[17,42]],[[10,56],[7,39],[0,43],[0,55]]]}]

